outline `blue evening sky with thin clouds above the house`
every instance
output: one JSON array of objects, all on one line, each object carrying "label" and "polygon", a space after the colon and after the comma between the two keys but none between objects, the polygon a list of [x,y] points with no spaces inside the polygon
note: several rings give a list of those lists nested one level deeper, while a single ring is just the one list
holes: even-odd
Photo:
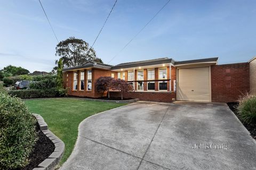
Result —
[{"label": "blue evening sky with thin clouds above the house", "polygon": [[[41,0],[59,40],[90,45],[115,0]],[[167,0],[118,0],[94,45],[104,63],[115,56]],[[57,40],[37,0],[0,0],[0,69],[12,64],[51,71]],[[219,64],[256,55],[256,1],[170,1],[109,64],[172,57],[219,57]]]}]

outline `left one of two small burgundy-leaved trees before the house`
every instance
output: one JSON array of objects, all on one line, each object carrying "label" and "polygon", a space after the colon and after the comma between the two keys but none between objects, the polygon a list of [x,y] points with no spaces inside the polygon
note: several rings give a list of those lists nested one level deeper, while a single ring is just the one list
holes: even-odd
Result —
[{"label": "left one of two small burgundy-leaved trees before the house", "polygon": [[111,77],[100,77],[99,79],[97,79],[96,81],[96,87],[97,87],[97,91],[98,92],[108,92],[108,98],[109,96],[109,89],[112,88],[114,78]]}]

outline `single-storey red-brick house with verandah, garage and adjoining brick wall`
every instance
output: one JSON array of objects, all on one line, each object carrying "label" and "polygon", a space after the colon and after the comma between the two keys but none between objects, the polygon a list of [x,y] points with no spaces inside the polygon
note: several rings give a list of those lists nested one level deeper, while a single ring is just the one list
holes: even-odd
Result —
[{"label": "single-storey red-brick house with verandah, garage and adjoining brick wall", "polygon": [[[189,61],[166,57],[115,66],[88,62],[63,69],[63,77],[71,96],[106,96],[106,92],[97,91],[95,81],[108,76],[123,79],[133,86],[134,91],[125,92],[125,98],[162,102],[233,102],[250,91],[250,76],[255,80],[255,63],[256,60],[218,65],[218,57]],[[254,74],[250,73],[251,64],[254,64]],[[251,88],[255,90],[255,81]],[[110,95],[120,97],[117,91],[111,91]]]}]

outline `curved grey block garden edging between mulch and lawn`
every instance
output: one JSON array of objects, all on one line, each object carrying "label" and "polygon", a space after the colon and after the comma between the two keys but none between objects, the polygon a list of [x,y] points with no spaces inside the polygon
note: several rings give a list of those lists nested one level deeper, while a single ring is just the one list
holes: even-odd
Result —
[{"label": "curved grey block garden edging between mulch and lawn", "polygon": [[64,153],[65,144],[62,140],[60,140],[57,136],[55,136],[50,130],[48,130],[48,126],[46,122],[44,122],[44,118],[41,115],[38,115],[38,114],[33,114],[33,115],[37,119],[40,130],[46,135],[47,138],[49,138],[53,142],[55,146],[55,149],[52,152],[52,154],[33,170],[51,170],[60,162],[60,159]]}]

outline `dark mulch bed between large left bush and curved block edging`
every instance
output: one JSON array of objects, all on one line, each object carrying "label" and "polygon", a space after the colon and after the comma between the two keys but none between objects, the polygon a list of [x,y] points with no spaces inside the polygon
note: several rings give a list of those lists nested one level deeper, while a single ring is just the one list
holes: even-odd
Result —
[{"label": "dark mulch bed between large left bush and curved block edging", "polygon": [[44,159],[49,157],[55,149],[52,141],[47,138],[41,130],[39,130],[38,125],[36,127],[36,131],[38,132],[38,141],[34,146],[34,151],[29,155],[30,163],[25,168],[21,168],[19,170],[31,170],[37,167],[37,165],[39,165],[43,162]]}]

